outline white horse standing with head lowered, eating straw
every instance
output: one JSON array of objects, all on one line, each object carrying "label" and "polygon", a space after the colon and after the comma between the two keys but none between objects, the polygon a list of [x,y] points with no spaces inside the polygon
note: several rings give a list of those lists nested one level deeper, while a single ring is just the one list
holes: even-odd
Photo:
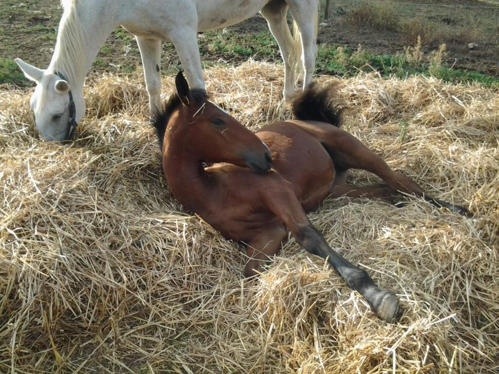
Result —
[{"label": "white horse standing with head lowered, eating straw", "polygon": [[[36,82],[31,109],[42,139],[68,140],[85,114],[85,75],[100,47],[121,25],[135,34],[139,45],[149,109],[160,109],[161,41],[177,50],[192,88],[205,88],[198,31],[226,27],[256,12],[265,17],[284,60],[284,99],[294,95],[294,64],[301,55],[303,88],[312,80],[317,47],[318,0],[62,0],[54,54],[46,70],[15,61],[24,75]],[[286,22],[290,10],[294,39]],[[297,43],[300,50],[297,51]]]}]

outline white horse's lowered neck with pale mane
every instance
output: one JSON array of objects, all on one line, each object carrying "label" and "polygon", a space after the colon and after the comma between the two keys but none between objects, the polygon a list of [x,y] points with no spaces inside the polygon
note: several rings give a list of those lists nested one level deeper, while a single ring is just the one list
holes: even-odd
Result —
[{"label": "white horse's lowered neck with pale mane", "polygon": [[47,71],[64,75],[72,89],[81,90],[87,71],[115,27],[100,11],[99,1],[64,1],[64,13],[54,54]]}]

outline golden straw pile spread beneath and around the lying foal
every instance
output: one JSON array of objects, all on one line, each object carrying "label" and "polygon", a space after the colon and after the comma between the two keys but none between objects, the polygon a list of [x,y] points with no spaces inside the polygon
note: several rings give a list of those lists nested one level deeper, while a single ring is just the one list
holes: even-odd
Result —
[{"label": "golden straw pile spread beneath and around the lying foal", "polygon": [[[252,129],[288,118],[281,65],[211,68],[206,79],[213,101]],[[345,128],[478,216],[347,198],[310,214],[399,295],[398,325],[293,239],[260,279],[244,281],[242,247],[183,212],[160,175],[142,77],[87,85],[88,115],[70,147],[34,138],[27,93],[0,95],[1,373],[497,369],[497,92],[422,77],[343,81]]]}]

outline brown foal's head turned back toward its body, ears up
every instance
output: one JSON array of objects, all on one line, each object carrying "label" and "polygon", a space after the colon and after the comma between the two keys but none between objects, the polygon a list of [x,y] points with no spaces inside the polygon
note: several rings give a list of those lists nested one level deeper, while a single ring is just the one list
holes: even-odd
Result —
[{"label": "brown foal's head turned back toward its body, ears up", "polygon": [[176,143],[200,161],[227,162],[248,167],[253,173],[270,170],[270,152],[256,135],[208,101],[204,90],[189,89],[182,72],[177,74],[175,85],[176,95],[154,121],[162,152]]}]

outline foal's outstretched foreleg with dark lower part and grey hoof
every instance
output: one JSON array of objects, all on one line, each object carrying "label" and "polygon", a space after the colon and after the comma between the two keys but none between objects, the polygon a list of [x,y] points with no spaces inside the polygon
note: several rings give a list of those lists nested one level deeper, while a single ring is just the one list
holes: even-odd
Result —
[{"label": "foal's outstretched foreleg with dark lower part and grey hoof", "polygon": [[[282,186],[284,185],[284,186]],[[273,193],[270,191],[274,191]],[[278,193],[275,191],[278,190]],[[399,318],[398,299],[390,291],[381,290],[366,271],[357,268],[335,252],[308,220],[291,185],[281,181],[279,189],[262,191],[262,200],[291,231],[296,241],[308,252],[327,258],[347,285],[358,291],[384,321],[395,323]]]}]

